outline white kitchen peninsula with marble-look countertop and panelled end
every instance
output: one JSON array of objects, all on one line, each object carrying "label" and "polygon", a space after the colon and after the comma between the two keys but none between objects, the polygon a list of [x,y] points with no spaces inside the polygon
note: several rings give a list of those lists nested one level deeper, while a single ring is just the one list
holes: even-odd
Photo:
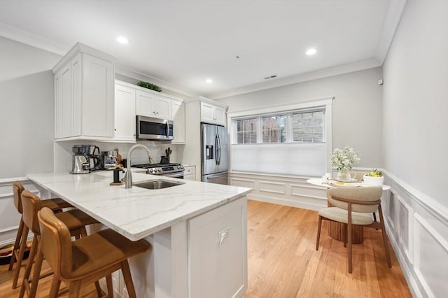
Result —
[{"label": "white kitchen peninsula with marble-look countertop and panelled end", "polygon": [[[132,173],[134,183],[157,176]],[[175,178],[160,190],[110,186],[112,171],[27,176],[128,239],[153,246],[130,260],[137,297],[242,297],[247,288],[244,187]],[[104,252],[107,253],[107,252]],[[116,297],[123,279],[113,276]]]}]

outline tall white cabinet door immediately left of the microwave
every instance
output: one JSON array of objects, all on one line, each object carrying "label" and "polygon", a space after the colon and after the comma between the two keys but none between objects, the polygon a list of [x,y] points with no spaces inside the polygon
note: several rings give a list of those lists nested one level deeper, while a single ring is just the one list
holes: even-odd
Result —
[{"label": "tall white cabinet door immediately left of the microwave", "polygon": [[135,141],[135,90],[115,85],[115,141]]}]

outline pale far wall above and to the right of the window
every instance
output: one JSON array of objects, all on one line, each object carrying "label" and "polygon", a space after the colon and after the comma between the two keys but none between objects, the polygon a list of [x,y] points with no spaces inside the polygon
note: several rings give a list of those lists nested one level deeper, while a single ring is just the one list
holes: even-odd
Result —
[{"label": "pale far wall above and to the right of the window", "polygon": [[262,106],[292,104],[334,96],[332,147],[351,146],[360,152],[360,167],[381,168],[382,151],[381,67],[310,80],[283,87],[217,99],[229,113]]}]

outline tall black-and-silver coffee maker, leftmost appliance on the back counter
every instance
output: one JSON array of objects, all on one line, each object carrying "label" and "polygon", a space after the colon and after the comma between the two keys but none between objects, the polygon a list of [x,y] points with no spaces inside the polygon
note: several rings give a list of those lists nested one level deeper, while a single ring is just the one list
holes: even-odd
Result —
[{"label": "tall black-and-silver coffee maker, leftmost appliance on the back counter", "polygon": [[90,173],[100,169],[100,155],[98,146],[93,145],[74,145],[71,149],[73,162],[70,173]]}]

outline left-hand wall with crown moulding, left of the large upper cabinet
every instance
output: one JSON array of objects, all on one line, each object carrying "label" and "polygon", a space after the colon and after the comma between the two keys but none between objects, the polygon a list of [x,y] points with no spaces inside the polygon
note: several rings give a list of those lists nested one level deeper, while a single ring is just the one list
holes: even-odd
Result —
[{"label": "left-hand wall with crown moulding, left of the large upper cabinet", "polygon": [[0,38],[0,179],[52,171],[58,55]]}]

